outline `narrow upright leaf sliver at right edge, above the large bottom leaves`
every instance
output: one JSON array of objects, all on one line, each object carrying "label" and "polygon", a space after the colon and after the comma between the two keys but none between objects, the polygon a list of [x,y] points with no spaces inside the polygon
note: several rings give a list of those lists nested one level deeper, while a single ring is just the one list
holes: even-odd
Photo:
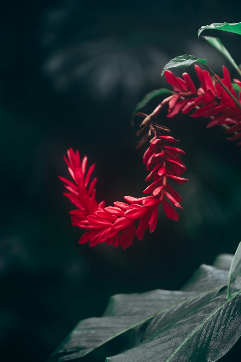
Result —
[{"label": "narrow upright leaf sliver at right edge, above the large bottom leaves", "polygon": [[228,299],[241,292],[241,243],[234,254],[229,274]]}]

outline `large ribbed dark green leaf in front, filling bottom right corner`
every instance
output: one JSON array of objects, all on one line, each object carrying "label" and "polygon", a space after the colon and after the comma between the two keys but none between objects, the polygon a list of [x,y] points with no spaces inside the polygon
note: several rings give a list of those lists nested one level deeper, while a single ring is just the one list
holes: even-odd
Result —
[{"label": "large ribbed dark green leaf in front, filling bottom right corner", "polygon": [[106,362],[217,361],[241,335],[241,294],[227,288],[206,294],[154,318],[143,342]]}]

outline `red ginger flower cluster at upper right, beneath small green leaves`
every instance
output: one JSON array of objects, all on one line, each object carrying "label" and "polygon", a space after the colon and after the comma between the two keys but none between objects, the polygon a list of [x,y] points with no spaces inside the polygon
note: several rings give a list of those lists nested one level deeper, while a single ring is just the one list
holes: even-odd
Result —
[{"label": "red ginger flower cluster at upper right, beneath small green leaves", "polygon": [[[195,70],[201,83],[201,87],[198,89],[195,88],[188,73],[183,73],[183,79],[181,79],[169,70],[164,72],[166,80],[172,85],[175,94],[165,98],[154,110],[153,114],[157,115],[163,106],[168,103],[167,117],[174,117],[182,111],[183,114],[189,113],[191,117],[211,118],[207,128],[216,125],[231,125],[231,127],[226,126],[227,129],[225,133],[235,132],[235,134],[228,139],[240,140],[241,109],[235,104],[217,80],[212,81],[208,71],[202,70],[197,65],[195,65]],[[237,98],[231,83],[229,71],[224,66],[223,79],[221,79],[221,81],[241,103],[241,92],[239,92],[239,97]],[[241,89],[241,81],[238,79],[234,79],[234,81]],[[241,144],[241,142],[238,144]]]}]

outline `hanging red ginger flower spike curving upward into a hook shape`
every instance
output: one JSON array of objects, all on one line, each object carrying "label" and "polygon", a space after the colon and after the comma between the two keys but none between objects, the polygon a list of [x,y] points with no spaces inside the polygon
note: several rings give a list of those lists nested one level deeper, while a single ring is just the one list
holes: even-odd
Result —
[{"label": "hanging red ginger flower spike curving upward into a hook shape", "polygon": [[180,148],[168,146],[166,142],[176,143],[177,140],[167,135],[155,135],[143,156],[147,171],[150,171],[146,181],[153,178],[152,184],[143,194],[151,195],[141,198],[125,196],[124,199],[128,203],[117,201],[114,202],[114,206],[108,207],[105,207],[104,201],[96,202],[94,187],[97,179],[94,178],[89,185],[95,164],[86,172],[87,157],[83,157],[81,162],[78,151],[74,153],[72,148],[68,150],[68,159],[64,159],[73,182],[64,177],[60,179],[65,182],[65,188],[69,191],[64,195],[77,206],[76,210],[70,211],[73,225],[87,230],[80,238],[80,244],[89,241],[89,245],[93,247],[105,242],[113,247],[120,244],[122,248],[128,248],[133,243],[134,235],[138,240],[142,240],[145,230],[155,230],[160,203],[168,218],[178,220],[179,216],[169,202],[182,210],[182,199],[168,180],[172,179],[177,184],[188,181],[180,177],[186,169],[180,159],[180,155],[185,152]]}]

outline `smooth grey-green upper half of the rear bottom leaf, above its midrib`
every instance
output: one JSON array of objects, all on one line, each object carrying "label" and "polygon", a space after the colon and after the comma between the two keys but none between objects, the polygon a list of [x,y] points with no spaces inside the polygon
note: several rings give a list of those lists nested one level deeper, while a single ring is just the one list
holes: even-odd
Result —
[{"label": "smooth grey-green upper half of the rear bottom leaf, above its midrib", "polygon": [[[212,295],[218,290],[219,288],[215,288]],[[50,361],[71,361],[83,357],[129,329],[203,294],[206,293],[154,290],[142,294],[112,296],[103,317],[79,322],[53,353]]]}]

